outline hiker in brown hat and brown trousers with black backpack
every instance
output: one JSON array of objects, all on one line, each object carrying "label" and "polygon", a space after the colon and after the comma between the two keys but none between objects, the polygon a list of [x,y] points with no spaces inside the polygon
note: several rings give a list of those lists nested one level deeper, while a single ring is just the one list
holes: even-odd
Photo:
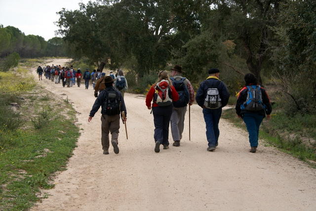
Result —
[{"label": "hiker in brown hat and brown trousers with black backpack", "polygon": [[111,143],[114,148],[114,153],[118,154],[119,114],[124,111],[125,117],[123,121],[126,122],[126,107],[120,92],[113,87],[113,78],[106,76],[104,81],[106,88],[100,92],[100,95],[95,100],[88,117],[88,122],[92,120],[92,117],[101,106],[101,143],[103,154],[109,154],[109,132],[112,136]]}]

